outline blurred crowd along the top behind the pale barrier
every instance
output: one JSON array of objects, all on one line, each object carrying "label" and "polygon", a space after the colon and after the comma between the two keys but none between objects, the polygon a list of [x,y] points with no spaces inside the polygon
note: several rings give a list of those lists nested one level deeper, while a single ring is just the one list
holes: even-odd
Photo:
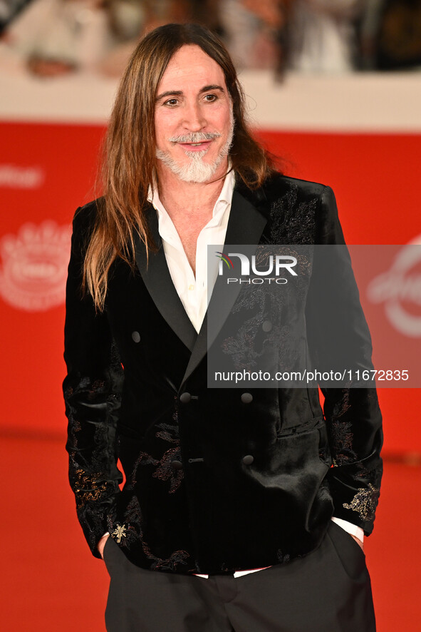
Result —
[{"label": "blurred crowd along the top behind the pale barrier", "polygon": [[0,0],[0,59],[39,77],[118,77],[137,41],[197,22],[239,70],[311,73],[421,68],[421,0]]}]

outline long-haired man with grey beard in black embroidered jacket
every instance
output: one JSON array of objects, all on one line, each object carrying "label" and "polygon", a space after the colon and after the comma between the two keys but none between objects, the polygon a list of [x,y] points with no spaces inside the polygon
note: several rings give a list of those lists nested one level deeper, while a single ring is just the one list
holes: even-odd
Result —
[{"label": "long-haired man with grey beard in black embroidered jacket", "polygon": [[[323,415],[316,388],[207,388],[207,245],[343,244],[331,189],[275,170],[227,50],[193,24],[140,41],[103,173],[73,222],[63,390],[108,631],[373,632],[375,390],[325,388]],[[341,274],[320,345],[348,331]],[[349,335],[370,348],[364,323]]]}]

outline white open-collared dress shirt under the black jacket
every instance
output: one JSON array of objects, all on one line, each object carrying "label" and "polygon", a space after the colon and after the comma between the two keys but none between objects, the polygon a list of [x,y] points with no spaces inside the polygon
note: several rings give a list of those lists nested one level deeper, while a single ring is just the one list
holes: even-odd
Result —
[{"label": "white open-collared dress shirt under the black jacket", "polygon": [[[206,226],[202,228],[197,238],[196,249],[196,277],[189,265],[186,253],[180,236],[172,223],[170,215],[162,205],[158,195],[157,188],[150,190],[148,199],[157,210],[159,232],[164,247],[165,258],[167,260],[168,270],[172,282],[174,283],[177,294],[184,305],[189,319],[192,321],[194,329],[199,333],[200,327],[207,310],[207,245],[222,245],[225,243],[225,235],[227,233],[227,225],[229,220],[229,211],[231,210],[232,193],[234,190],[235,177],[234,172],[230,171],[224,180],[222,191],[217,199],[212,211],[212,218]],[[209,270],[209,282],[217,280],[219,259],[214,258],[215,263],[211,260],[209,263],[212,270]],[[356,536],[361,542],[364,539],[364,532],[356,524],[352,524],[341,518],[332,518],[349,534]],[[266,566],[265,568],[269,568]],[[250,569],[247,571],[236,571],[234,577],[239,577],[247,573],[254,573],[263,569]],[[197,574],[199,577],[208,577],[207,575]]]}]

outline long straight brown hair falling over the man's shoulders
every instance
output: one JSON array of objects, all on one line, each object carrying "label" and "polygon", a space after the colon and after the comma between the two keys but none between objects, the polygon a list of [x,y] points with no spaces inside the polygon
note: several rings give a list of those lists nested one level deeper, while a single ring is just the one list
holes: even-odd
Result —
[{"label": "long straight brown hair falling over the man's shoulders", "polygon": [[118,89],[104,143],[103,197],[85,255],[83,285],[103,310],[108,272],[115,258],[134,265],[134,235],[154,249],[144,208],[155,170],[155,96],[170,59],[184,44],[200,46],[224,71],[232,98],[232,168],[256,188],[274,167],[269,154],[252,138],[246,123],[244,93],[222,41],[197,24],[165,24],[137,45]]}]

